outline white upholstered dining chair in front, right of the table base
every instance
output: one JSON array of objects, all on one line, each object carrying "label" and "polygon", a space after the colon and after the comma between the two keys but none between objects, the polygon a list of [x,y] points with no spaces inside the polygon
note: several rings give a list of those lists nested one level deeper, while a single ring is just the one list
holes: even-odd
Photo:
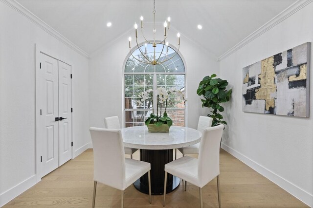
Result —
[{"label": "white upholstered dining chair in front, right of the table base", "polygon": [[209,127],[203,130],[200,141],[198,159],[184,156],[165,165],[164,197],[165,206],[167,173],[175,175],[185,180],[185,190],[187,181],[199,187],[200,205],[203,208],[202,187],[217,177],[217,193],[219,208],[221,208],[220,196],[220,142],[222,139],[224,125]]}]

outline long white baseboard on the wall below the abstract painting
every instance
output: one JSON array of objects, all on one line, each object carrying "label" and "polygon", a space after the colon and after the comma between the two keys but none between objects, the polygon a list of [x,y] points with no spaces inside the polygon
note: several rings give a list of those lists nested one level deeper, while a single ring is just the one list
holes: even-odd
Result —
[{"label": "long white baseboard on the wall below the abstract painting", "polygon": [[282,178],[281,176],[277,175],[276,173],[268,170],[267,168],[261,166],[260,164],[256,163],[255,161],[251,160],[250,158],[246,157],[242,153],[232,149],[231,147],[228,147],[227,145],[223,144],[221,147],[245,163],[247,166],[252,168],[253,170],[257,171],[261,175],[268,178],[268,180],[272,181],[273,183],[277,184],[282,189],[286,190],[290,194],[292,194],[294,197],[302,201],[303,203],[307,204],[310,207],[313,207],[313,195],[308,193],[307,191],[297,187],[296,185],[292,184],[291,182],[287,181],[286,179]]}]

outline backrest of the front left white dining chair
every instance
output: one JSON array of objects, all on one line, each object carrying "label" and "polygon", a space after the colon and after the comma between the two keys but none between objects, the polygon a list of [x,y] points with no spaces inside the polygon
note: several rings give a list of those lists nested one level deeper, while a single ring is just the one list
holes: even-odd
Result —
[{"label": "backrest of the front left white dining chair", "polygon": [[123,189],[125,155],[120,130],[90,127],[93,146],[94,181]]}]

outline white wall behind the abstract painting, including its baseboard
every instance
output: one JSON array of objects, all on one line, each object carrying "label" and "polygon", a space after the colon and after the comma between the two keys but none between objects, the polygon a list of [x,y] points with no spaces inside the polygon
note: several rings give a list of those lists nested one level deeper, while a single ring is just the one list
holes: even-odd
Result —
[{"label": "white wall behind the abstract painting, including its baseboard", "polygon": [[313,81],[313,3],[297,11],[220,62],[221,77],[233,88],[224,113],[227,128],[223,148],[313,207],[313,89],[310,117],[244,113],[243,67],[311,42]]}]

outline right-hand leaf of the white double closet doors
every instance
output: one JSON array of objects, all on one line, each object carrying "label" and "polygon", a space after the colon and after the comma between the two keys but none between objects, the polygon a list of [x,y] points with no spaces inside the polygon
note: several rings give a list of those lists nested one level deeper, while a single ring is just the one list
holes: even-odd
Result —
[{"label": "right-hand leaf of the white double closet doors", "polygon": [[71,66],[59,61],[59,165],[72,158],[72,117],[71,117]]}]

